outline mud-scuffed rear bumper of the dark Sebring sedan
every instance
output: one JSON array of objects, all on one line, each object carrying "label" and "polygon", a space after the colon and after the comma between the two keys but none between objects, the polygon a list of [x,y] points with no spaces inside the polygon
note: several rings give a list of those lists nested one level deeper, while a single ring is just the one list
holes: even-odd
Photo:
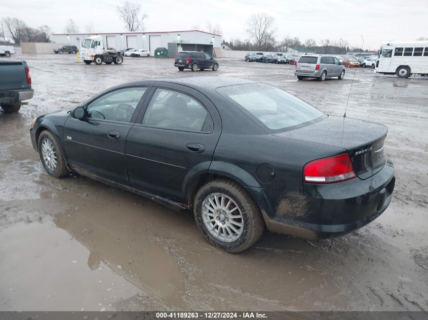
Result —
[{"label": "mud-scuffed rear bumper of the dark Sebring sedan", "polygon": [[326,239],[351,233],[376,219],[390,204],[394,186],[394,165],[388,161],[366,180],[304,184],[303,195],[247,190],[255,196],[269,231]]}]

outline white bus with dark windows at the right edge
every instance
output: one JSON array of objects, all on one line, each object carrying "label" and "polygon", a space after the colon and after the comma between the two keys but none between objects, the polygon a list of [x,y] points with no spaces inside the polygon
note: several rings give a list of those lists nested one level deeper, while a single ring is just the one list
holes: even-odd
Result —
[{"label": "white bus with dark windows at the right edge", "polygon": [[428,75],[428,41],[383,42],[374,72],[395,73],[400,78]]}]

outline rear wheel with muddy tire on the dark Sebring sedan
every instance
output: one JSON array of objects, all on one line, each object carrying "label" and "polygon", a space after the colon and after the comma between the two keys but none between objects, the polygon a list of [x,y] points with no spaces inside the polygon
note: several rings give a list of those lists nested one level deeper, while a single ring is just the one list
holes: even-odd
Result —
[{"label": "rear wheel with muddy tire on the dark Sebring sedan", "polygon": [[[228,207],[230,210],[230,206],[234,214],[225,209]],[[260,209],[249,193],[237,182],[225,178],[212,180],[199,189],[194,198],[193,214],[199,230],[208,242],[230,253],[238,253],[251,247],[264,230]],[[210,225],[214,225],[213,228],[209,229]],[[225,238],[225,241],[221,238]]]}]

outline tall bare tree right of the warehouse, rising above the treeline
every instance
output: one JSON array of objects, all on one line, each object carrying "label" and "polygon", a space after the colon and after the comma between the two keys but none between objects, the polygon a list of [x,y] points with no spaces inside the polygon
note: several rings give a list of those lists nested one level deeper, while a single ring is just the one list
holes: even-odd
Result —
[{"label": "tall bare tree right of the warehouse, rising above the treeline", "polygon": [[268,51],[275,47],[275,31],[275,18],[267,13],[257,13],[248,19],[247,32],[254,38],[259,50]]}]

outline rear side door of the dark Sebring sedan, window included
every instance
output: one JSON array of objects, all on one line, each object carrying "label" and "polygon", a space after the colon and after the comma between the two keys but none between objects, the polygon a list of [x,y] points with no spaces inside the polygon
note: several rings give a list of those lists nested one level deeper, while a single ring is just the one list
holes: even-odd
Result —
[{"label": "rear side door of the dark Sebring sedan, window included", "polygon": [[185,202],[185,189],[207,173],[221,132],[217,109],[187,86],[152,89],[129,131],[125,158],[131,187]]}]

